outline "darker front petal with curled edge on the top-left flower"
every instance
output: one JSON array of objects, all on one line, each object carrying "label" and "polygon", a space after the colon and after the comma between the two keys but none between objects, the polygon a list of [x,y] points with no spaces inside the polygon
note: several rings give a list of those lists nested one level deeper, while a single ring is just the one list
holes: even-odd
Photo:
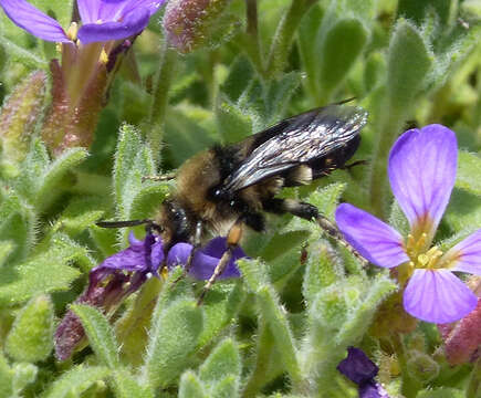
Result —
[{"label": "darker front petal with curled edge on the top-left flower", "polygon": [[119,40],[139,33],[147,27],[149,20],[147,9],[137,9],[122,22],[87,23],[79,29],[79,39],[82,43]]}]

